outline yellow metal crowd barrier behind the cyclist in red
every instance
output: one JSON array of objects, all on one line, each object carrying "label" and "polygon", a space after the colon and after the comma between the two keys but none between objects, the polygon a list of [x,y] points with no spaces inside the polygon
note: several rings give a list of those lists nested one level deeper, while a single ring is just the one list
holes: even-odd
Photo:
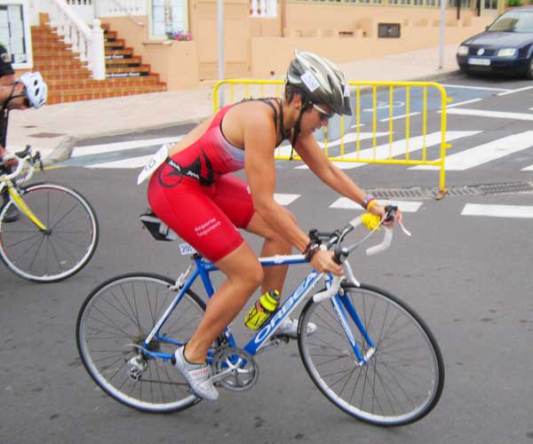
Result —
[{"label": "yellow metal crowd barrier behind the cyclist in red", "polygon": [[[340,118],[340,133],[343,135],[334,141],[327,139],[327,128],[324,129],[324,140],[320,145],[330,160],[333,162],[433,166],[440,170],[439,188],[441,195],[443,195],[446,192],[444,161],[446,149],[451,147],[450,144],[446,143],[446,107],[450,99],[444,88],[439,83],[433,82],[348,82],[348,84],[351,87],[352,99],[354,100],[354,115],[349,120],[353,124],[344,134],[348,118],[342,116]],[[223,97],[227,98],[227,90],[229,90],[227,103],[234,103],[241,99],[280,98],[282,97],[282,86],[281,80],[232,79],[220,81],[215,85],[213,92],[214,111],[219,109],[219,95],[223,94]],[[256,87],[255,94],[252,94],[251,87]],[[378,94],[385,96],[385,100],[378,100]],[[434,122],[427,120],[428,94],[436,94],[435,99],[441,104],[440,123],[437,123],[436,127]],[[367,102],[366,108],[363,101]],[[411,112],[413,101],[420,103],[419,111]],[[404,115],[394,116],[396,103],[405,107]],[[383,111],[387,108],[388,113],[384,117]],[[381,112],[381,116],[378,118],[379,112]],[[362,119],[363,113],[371,113],[370,119]],[[404,121],[404,124],[395,124],[400,119]],[[366,122],[363,123],[362,120]],[[361,131],[367,125],[371,126],[370,131]],[[432,127],[436,131],[433,136],[438,131],[441,133],[439,138],[440,154],[436,160],[428,160],[428,146],[426,145],[428,127]],[[402,139],[395,140],[396,134]],[[385,136],[387,136],[387,143],[378,146],[378,138]],[[355,148],[346,152],[346,143],[351,142],[354,142]],[[289,160],[290,147],[277,147],[275,158],[276,160]],[[295,156],[294,159],[299,158]]]}]

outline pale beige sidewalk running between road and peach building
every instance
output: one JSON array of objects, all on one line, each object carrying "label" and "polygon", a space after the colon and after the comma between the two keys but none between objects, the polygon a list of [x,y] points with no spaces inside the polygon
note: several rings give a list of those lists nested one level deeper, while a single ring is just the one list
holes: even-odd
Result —
[{"label": "pale beige sidewalk running between road and peach building", "polygon": [[[456,50],[455,44],[444,47],[442,69],[439,48],[344,63],[340,68],[349,80],[438,82],[457,71]],[[41,151],[45,163],[53,163],[67,159],[83,139],[199,122],[212,114],[212,91],[212,87],[205,87],[12,111],[7,149],[17,151],[29,144]]]}]

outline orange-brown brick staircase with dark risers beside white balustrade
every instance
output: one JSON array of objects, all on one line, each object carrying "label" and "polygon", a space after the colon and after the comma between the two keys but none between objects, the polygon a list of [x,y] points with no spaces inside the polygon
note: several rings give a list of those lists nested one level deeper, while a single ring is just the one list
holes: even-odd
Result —
[{"label": "orange-brown brick staircase with dark risers beside white balustrade", "polygon": [[106,79],[93,80],[86,63],[64,44],[55,28],[41,22],[31,28],[34,71],[40,71],[48,83],[47,104],[77,100],[105,99],[147,92],[166,91],[166,83],[150,72],[116,32],[104,28],[106,45]]}]

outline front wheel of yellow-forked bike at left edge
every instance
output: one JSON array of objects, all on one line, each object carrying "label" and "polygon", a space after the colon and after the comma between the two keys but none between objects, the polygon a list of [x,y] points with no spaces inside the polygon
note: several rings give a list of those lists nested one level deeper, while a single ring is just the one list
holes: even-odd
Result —
[{"label": "front wheel of yellow-forked bike at left edge", "polygon": [[56,282],[78,273],[91,260],[99,241],[98,218],[76,190],[51,182],[21,187],[22,199],[49,228],[46,232],[25,214],[4,222],[14,205],[0,210],[0,258],[13,273],[29,281]]}]

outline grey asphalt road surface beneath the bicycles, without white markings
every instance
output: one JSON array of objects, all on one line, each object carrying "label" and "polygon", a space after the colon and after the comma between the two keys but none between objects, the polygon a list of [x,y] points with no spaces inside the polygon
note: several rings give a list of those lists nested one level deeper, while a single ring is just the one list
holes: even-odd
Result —
[{"label": "grey asphalt road surface beneath the bicycles, without white markings", "polygon": [[[454,83],[529,86],[464,76]],[[466,95],[473,99],[478,92],[484,94],[482,101],[468,108],[526,113],[533,106],[531,91],[508,96],[488,91],[463,90],[454,101]],[[480,131],[474,142],[481,145],[529,128],[528,121],[516,119],[449,115],[449,129]],[[472,143],[458,139],[454,153]],[[471,170],[449,171],[448,185],[527,182],[532,173],[522,169],[531,164],[532,150],[523,150]],[[374,165],[347,172],[365,188],[436,186],[435,171]],[[179,256],[175,242],[155,242],[141,229],[138,216],[147,203],[144,187],[134,185],[136,176],[137,170],[80,167],[36,175],[36,180],[74,186],[91,201],[99,215],[100,241],[89,265],[67,281],[35,284],[0,267],[0,442],[531,442],[532,219],[461,213],[466,204],[533,206],[533,194],[457,194],[441,201],[418,197],[413,200],[421,202],[419,209],[404,218],[412,238],[397,230],[386,254],[351,260],[360,281],[388,289],[422,315],[446,365],[444,392],[434,411],[417,424],[383,429],[330,404],[307,377],[293,343],[258,357],[259,382],[250,392],[222,391],[219,402],[202,402],[176,414],[142,414],[96,388],[76,351],[76,314],[84,298],[115,274],[176,276],[188,261]],[[353,210],[330,207],[338,196],[309,171],[280,165],[277,180],[277,192],[300,194],[288,209],[306,229],[335,228],[354,217]],[[257,239],[246,238],[259,250]],[[295,267],[287,288],[306,271]],[[238,332],[243,331],[241,318],[235,321]]]}]

